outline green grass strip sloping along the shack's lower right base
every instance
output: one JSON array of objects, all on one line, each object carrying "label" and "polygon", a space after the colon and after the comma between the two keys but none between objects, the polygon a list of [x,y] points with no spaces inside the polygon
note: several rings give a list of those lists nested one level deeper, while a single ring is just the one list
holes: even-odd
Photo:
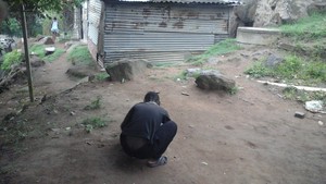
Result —
[{"label": "green grass strip sloping along the shack's lower right base", "polygon": [[189,62],[193,65],[202,65],[211,57],[230,53],[239,49],[240,46],[237,45],[235,39],[226,39],[210,47],[209,50],[206,50],[202,54],[189,58],[186,62]]}]

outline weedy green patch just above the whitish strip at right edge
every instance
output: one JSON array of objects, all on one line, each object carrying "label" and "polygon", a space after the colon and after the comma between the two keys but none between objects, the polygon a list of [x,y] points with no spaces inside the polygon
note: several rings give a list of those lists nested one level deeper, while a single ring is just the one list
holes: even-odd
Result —
[{"label": "weedy green patch just above the whitish strip at right edge", "polygon": [[274,68],[267,68],[265,60],[254,62],[244,71],[253,77],[271,76],[287,81],[300,79],[305,85],[326,83],[326,63],[319,60],[305,60],[297,56],[288,56],[285,61]]}]

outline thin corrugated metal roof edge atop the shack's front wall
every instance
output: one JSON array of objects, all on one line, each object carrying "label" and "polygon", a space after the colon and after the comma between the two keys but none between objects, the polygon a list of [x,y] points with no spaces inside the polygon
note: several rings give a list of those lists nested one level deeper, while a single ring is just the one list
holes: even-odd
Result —
[{"label": "thin corrugated metal roof edge atop the shack's front wall", "polygon": [[217,3],[217,4],[239,4],[237,0],[120,0],[126,2],[174,2],[174,3]]}]

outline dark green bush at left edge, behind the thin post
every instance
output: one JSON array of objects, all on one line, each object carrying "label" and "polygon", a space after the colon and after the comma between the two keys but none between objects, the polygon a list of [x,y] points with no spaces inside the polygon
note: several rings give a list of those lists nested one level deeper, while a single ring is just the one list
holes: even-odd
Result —
[{"label": "dark green bush at left edge, behind the thin post", "polygon": [[22,26],[16,19],[10,17],[0,24],[0,33],[22,37]]}]

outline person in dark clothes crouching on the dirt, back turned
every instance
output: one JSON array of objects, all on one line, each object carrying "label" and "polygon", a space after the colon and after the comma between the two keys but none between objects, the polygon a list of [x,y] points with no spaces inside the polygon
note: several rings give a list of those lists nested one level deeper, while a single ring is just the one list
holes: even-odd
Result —
[{"label": "person in dark clothes crouching on the dirt, back turned", "polygon": [[147,93],[143,102],[129,110],[121,130],[121,145],[128,156],[148,159],[147,165],[151,168],[167,162],[163,154],[176,135],[177,125],[167,111],[160,107],[156,93]]}]

